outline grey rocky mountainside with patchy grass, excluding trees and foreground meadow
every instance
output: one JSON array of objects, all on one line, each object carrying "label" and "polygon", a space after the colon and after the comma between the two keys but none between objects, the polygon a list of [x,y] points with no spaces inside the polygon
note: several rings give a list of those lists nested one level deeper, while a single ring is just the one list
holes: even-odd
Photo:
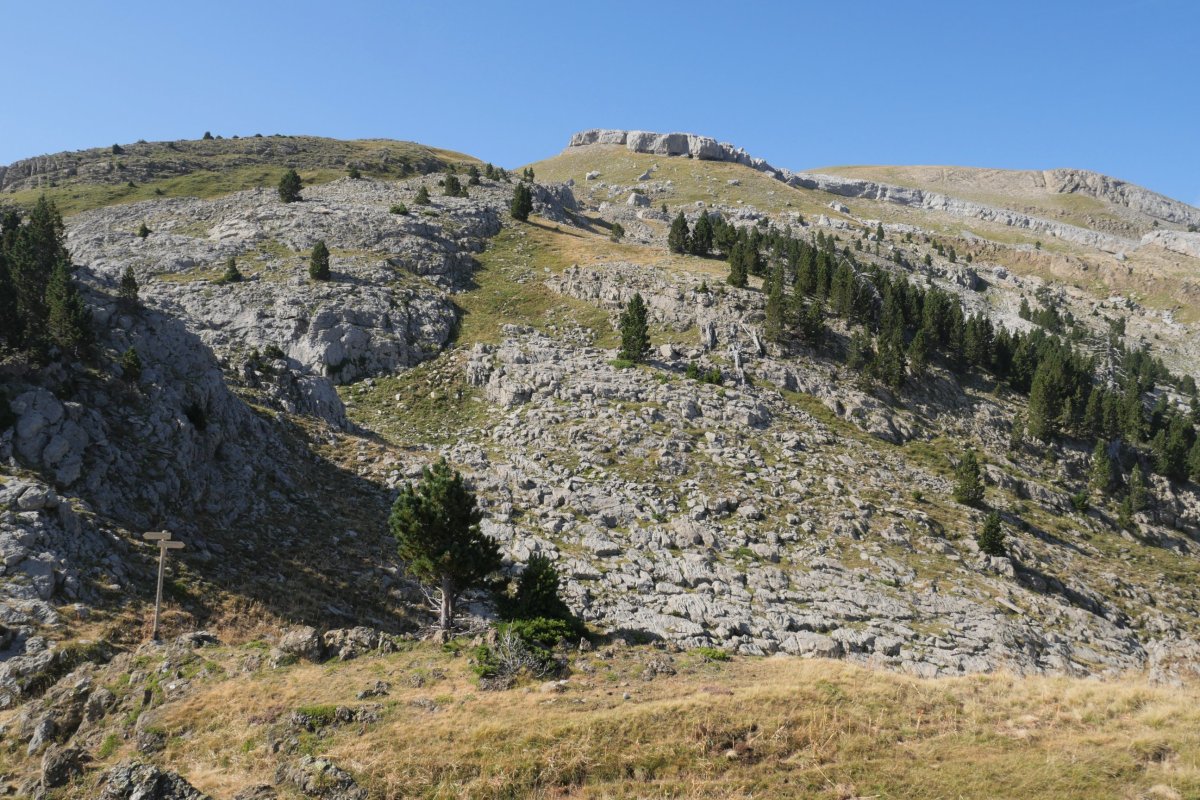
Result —
[{"label": "grey rocky mountainside with patchy grass, excluding trees and foreground meadow", "polygon": [[[922,679],[1195,678],[1200,488],[1151,475],[1148,501],[1120,505],[1134,463],[1153,471],[1150,443],[1114,443],[1121,481],[1093,492],[1091,440],[1021,433],[1027,392],[940,357],[884,385],[848,359],[852,319],[830,315],[820,345],[791,327],[768,336],[762,277],[731,287],[724,258],[667,247],[672,219],[694,227],[703,211],[743,231],[820,234],[862,282],[877,270],[936,289],[1006,331],[1085,347],[1120,330],[1122,353],[1148,347],[1176,373],[1138,398],[1151,420],[1189,411],[1198,260],[1135,234],[1154,218],[1147,236],[1189,241],[1194,210],[1111,181],[1055,184],[1127,227],[1090,224],[1030,193],[1003,205],[986,180],[958,192],[967,179],[808,175],[702,137],[605,131],[533,164],[520,223],[510,180],[468,181],[479,162],[412,146],[426,156],[272,137],[128,145],[6,173],[13,199],[43,179],[78,193],[67,246],[98,337],[90,365],[4,366],[0,774],[13,792],[125,798],[157,782],[194,796],[186,778],[220,798],[253,783],[386,795],[395,781],[486,795],[461,775],[394,774],[344,740],[343,726],[412,722],[365,675],[338,679],[356,700],[326,698],[325,673],[289,667],[368,657],[392,685],[461,672],[413,643],[424,603],[384,524],[396,487],[443,456],[479,492],[505,567],[550,558],[572,610],[611,637],[600,658],[563,654],[564,676],[619,662],[655,680],[731,655],[752,670],[781,655]],[[137,194],[97,193],[112,174],[84,167],[134,156]],[[466,197],[443,192],[450,164]],[[288,167],[308,170],[300,203],[274,191]],[[246,185],[248,169],[265,172]],[[196,192],[202,173],[215,178]],[[308,277],[318,240],[330,281]],[[239,282],[223,279],[230,258]],[[127,270],[133,308],[116,297]],[[653,349],[630,366],[616,320],[635,294]],[[138,377],[119,366],[131,347]],[[983,462],[976,505],[953,497],[968,449]],[[977,541],[990,512],[1003,555]],[[138,649],[154,566],[140,534],[162,528],[187,545],[167,616],[185,638]],[[212,638],[212,655],[193,650]],[[410,648],[430,664],[389,660]],[[404,703],[434,714],[479,688],[458,675],[437,691],[404,690]],[[197,709],[251,694],[277,699],[221,717],[258,726],[241,754],[211,744],[220,732]],[[341,794],[322,794],[330,784]],[[532,790],[491,788],[515,786]]]}]

